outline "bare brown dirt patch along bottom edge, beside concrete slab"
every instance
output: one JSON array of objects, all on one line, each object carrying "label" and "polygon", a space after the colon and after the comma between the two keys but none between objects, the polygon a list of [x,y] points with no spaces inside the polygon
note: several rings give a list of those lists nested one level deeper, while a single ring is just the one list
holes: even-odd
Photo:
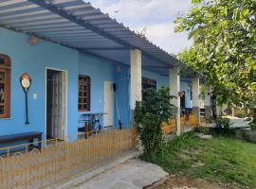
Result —
[{"label": "bare brown dirt patch along bottom edge, beside concrete slab", "polygon": [[191,180],[184,176],[171,176],[143,189],[234,189],[229,183],[212,183],[206,180]]}]

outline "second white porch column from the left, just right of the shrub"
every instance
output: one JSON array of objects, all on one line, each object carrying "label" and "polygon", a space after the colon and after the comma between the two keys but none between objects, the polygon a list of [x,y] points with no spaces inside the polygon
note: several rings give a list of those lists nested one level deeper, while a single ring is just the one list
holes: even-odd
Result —
[{"label": "second white porch column from the left, just right of the shrub", "polygon": [[170,94],[176,96],[171,100],[171,103],[174,105],[174,116],[176,119],[176,135],[179,136],[181,133],[180,129],[180,97],[178,96],[178,92],[180,91],[180,76],[179,76],[179,68],[174,67],[169,70],[169,88]]}]

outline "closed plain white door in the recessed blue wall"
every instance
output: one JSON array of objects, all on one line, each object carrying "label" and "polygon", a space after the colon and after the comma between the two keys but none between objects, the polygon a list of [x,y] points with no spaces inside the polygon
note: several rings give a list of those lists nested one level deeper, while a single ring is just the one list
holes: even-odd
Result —
[{"label": "closed plain white door in the recessed blue wall", "polygon": [[104,127],[114,126],[114,88],[113,82],[104,82]]}]

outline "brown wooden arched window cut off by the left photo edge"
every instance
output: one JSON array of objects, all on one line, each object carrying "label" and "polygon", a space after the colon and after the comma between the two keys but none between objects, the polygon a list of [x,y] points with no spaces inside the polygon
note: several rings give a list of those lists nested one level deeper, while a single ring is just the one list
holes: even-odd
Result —
[{"label": "brown wooden arched window cut off by the left photo edge", "polygon": [[10,114],[10,59],[0,54],[0,118]]}]

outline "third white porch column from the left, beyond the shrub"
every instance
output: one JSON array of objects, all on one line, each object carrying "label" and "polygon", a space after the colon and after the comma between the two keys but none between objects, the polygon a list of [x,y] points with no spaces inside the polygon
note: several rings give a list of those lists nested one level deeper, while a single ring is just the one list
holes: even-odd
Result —
[{"label": "third white porch column from the left, beyond the shrub", "polygon": [[196,116],[197,124],[200,122],[199,93],[199,77],[194,77],[192,78],[192,112]]}]

